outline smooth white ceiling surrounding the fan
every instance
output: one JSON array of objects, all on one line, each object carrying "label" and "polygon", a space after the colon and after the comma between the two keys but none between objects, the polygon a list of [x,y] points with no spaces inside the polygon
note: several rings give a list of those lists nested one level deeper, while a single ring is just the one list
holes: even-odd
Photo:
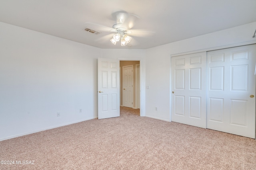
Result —
[{"label": "smooth white ceiling surrounding the fan", "polygon": [[[88,22],[112,27],[117,11],[139,16],[132,29],[150,34],[128,47],[84,31]],[[148,49],[254,22],[256,0],[0,0],[0,21],[102,49]]]}]

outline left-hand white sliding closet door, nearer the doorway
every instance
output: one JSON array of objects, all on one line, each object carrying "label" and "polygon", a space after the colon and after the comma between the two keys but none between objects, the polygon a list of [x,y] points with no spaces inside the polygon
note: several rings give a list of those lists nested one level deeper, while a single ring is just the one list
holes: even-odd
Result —
[{"label": "left-hand white sliding closet door, nearer the doorway", "polygon": [[206,128],[206,52],[172,57],[172,121]]}]

